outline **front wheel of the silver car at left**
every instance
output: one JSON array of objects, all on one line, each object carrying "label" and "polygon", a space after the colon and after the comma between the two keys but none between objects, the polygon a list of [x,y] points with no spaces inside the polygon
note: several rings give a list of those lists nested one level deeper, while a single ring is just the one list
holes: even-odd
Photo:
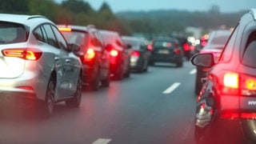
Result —
[{"label": "front wheel of the silver car at left", "polygon": [[79,107],[81,104],[81,100],[82,100],[82,75],[80,74],[78,78],[78,86],[74,94],[74,98],[67,100],[65,103],[66,103],[66,106],[69,106],[69,107]]}]

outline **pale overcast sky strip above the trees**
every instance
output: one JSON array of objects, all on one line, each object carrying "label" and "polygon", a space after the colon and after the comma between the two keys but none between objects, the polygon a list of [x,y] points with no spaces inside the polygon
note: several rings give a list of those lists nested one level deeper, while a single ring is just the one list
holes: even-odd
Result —
[{"label": "pale overcast sky strip above the trees", "polygon": [[[61,2],[63,0],[55,0]],[[256,8],[256,0],[85,0],[94,10],[107,2],[111,10],[116,12],[126,10],[190,10],[206,11],[211,6],[219,6],[224,13],[250,10]]]}]

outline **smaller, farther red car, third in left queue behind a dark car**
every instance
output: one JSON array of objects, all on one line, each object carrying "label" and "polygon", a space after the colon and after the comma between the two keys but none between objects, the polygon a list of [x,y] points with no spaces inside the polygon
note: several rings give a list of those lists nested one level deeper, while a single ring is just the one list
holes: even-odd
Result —
[{"label": "smaller, farther red car, third in left queue behind a dark car", "polygon": [[130,50],[118,32],[100,30],[103,44],[110,54],[110,73],[114,79],[130,77]]}]

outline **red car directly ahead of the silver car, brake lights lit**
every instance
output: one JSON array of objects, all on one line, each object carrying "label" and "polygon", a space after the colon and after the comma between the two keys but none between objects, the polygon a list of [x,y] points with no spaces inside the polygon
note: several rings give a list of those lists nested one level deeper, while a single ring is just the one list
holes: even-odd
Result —
[{"label": "red car directly ahead of the silver car, brake lights lit", "polygon": [[81,46],[83,84],[90,90],[110,85],[110,56],[102,44],[101,35],[93,26],[58,25],[68,42]]}]

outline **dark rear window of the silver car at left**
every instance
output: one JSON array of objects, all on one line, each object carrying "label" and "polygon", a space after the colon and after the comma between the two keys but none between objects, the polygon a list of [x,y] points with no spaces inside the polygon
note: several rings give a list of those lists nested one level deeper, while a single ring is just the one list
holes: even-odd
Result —
[{"label": "dark rear window of the silver car at left", "polygon": [[0,44],[16,42],[26,42],[24,26],[17,23],[0,22]]}]

